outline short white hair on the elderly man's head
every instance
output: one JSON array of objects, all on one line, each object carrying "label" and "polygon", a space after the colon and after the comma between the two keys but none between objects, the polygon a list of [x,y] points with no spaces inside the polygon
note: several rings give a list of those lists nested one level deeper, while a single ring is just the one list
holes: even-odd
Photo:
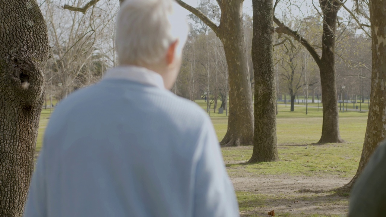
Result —
[{"label": "short white hair on the elderly man's head", "polygon": [[173,12],[174,0],[125,0],[117,19],[116,47],[120,64],[160,63],[169,46],[179,40],[180,55],[188,37],[185,17]]}]

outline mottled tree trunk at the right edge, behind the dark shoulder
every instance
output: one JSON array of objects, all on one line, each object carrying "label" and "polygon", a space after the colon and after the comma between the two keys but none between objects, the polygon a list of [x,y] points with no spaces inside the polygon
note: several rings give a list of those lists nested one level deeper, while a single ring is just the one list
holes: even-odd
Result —
[{"label": "mottled tree trunk at the right edge, behind the dark shoulder", "polygon": [[339,190],[350,191],[367,161],[386,136],[386,6],[381,1],[370,1],[372,35],[372,73],[369,115],[361,160],[352,180]]}]

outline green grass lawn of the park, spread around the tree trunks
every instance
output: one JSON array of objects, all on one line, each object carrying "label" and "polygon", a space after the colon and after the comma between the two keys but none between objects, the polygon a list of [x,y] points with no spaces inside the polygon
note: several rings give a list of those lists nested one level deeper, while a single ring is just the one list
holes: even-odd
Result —
[{"label": "green grass lawn of the park, spread around the tree trunks", "polygon": [[[203,100],[197,101],[206,110]],[[213,107],[213,106],[212,106]],[[340,112],[340,134],[346,143],[342,144],[313,144],[320,138],[322,131],[322,109],[309,108],[308,115],[305,107],[295,107],[295,112],[289,111],[289,106],[279,105],[277,116],[278,152],[280,161],[245,164],[252,155],[252,146],[223,147],[222,154],[231,178],[236,177],[259,177],[269,175],[279,176],[303,176],[303,177],[336,177],[351,178],[354,176],[361,156],[364,134],[366,131],[367,112]],[[217,111],[216,111],[217,112]],[[37,141],[37,153],[42,146],[42,136],[50,116],[50,110],[44,109],[39,123]],[[213,113],[211,109],[210,118],[217,132],[218,140],[221,141],[227,131],[227,116]],[[253,210],[266,209],[270,206],[272,199],[291,201],[299,198],[291,194],[260,194],[251,190],[237,191],[240,212],[242,216],[266,216]],[[347,207],[348,197],[331,199],[332,193],[322,193],[317,197],[327,198],[321,206],[328,204],[343,204]],[[307,196],[305,196],[307,197]],[[269,198],[270,200],[268,200]],[[304,198],[305,199],[305,198]],[[257,207],[257,208],[256,208]],[[268,209],[268,208],[267,208]],[[244,214],[243,214],[244,213]],[[310,214],[289,212],[278,212],[277,216],[340,216],[323,215],[323,213]]]}]

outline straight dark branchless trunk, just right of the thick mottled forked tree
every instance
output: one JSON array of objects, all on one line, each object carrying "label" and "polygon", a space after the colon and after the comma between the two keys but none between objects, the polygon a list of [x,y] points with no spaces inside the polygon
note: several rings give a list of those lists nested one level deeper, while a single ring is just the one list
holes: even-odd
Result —
[{"label": "straight dark branchless trunk, just right of the thick mottled forked tree", "polygon": [[278,161],[276,82],[273,64],[273,0],[253,0],[252,61],[255,76],[255,134],[249,163]]}]

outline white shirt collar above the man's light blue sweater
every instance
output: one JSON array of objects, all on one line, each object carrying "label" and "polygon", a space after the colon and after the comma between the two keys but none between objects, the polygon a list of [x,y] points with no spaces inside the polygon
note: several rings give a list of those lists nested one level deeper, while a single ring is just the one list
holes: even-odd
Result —
[{"label": "white shirt collar above the man's light blue sweater", "polygon": [[144,85],[156,86],[164,89],[164,80],[161,75],[140,66],[120,66],[109,69],[103,79],[127,79]]}]

